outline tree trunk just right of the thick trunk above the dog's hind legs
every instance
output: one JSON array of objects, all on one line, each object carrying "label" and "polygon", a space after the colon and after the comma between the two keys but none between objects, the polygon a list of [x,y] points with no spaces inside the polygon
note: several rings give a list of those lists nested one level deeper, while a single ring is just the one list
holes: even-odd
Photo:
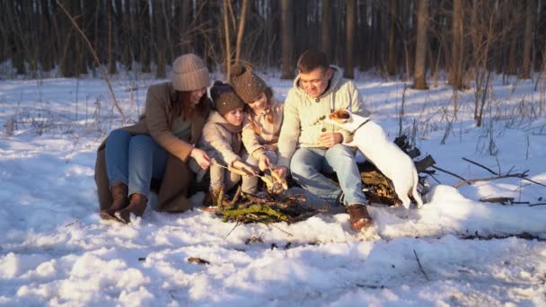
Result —
[{"label": "tree trunk just right of the thick trunk above the dog's hind legs", "polygon": [[462,89],[462,0],[454,0],[453,41],[451,48],[451,66],[449,84],[455,89]]}]

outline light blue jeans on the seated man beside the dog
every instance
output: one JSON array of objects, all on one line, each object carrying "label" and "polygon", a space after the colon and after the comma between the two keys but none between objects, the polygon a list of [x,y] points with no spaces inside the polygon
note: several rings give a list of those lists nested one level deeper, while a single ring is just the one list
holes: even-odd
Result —
[{"label": "light blue jeans on the seated man beside the dog", "polygon": [[[326,200],[330,206],[339,206],[341,191],[345,194],[342,205],[365,204],[355,154],[346,145],[337,144],[328,149],[298,148],[292,156],[290,171],[304,189]],[[336,172],[339,187],[321,172]]]}]

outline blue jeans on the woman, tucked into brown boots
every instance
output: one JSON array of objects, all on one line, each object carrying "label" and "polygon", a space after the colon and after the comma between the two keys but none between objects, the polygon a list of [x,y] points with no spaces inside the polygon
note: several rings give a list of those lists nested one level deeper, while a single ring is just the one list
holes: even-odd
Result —
[{"label": "blue jeans on the woman, tucked into brown boots", "polygon": [[162,180],[168,153],[151,136],[131,136],[116,129],[106,140],[106,173],[110,187],[115,183],[128,185],[128,195],[139,193],[148,197],[152,179]]}]

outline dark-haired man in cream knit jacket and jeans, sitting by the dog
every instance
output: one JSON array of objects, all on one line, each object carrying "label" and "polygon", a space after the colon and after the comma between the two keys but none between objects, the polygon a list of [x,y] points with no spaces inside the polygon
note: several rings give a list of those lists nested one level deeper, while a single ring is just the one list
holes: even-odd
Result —
[{"label": "dark-haired man in cream knit jacket and jeans, sitting by the dog", "polygon": [[[277,173],[285,177],[290,171],[304,189],[331,206],[346,206],[354,229],[368,227],[373,221],[365,207],[355,154],[343,145],[352,136],[323,120],[338,109],[367,116],[357,87],[343,79],[341,69],[330,65],[321,51],[305,51],[297,67],[299,75],[285,101]],[[321,172],[336,172],[339,187]]]}]

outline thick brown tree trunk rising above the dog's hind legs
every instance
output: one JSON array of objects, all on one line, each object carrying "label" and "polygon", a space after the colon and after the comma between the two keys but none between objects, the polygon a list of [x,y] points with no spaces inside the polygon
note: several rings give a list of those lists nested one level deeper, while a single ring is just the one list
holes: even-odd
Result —
[{"label": "thick brown tree trunk rising above the dog's hind legs", "polygon": [[418,0],[417,45],[415,48],[415,69],[413,88],[427,90],[427,29],[428,29],[428,0]]}]

